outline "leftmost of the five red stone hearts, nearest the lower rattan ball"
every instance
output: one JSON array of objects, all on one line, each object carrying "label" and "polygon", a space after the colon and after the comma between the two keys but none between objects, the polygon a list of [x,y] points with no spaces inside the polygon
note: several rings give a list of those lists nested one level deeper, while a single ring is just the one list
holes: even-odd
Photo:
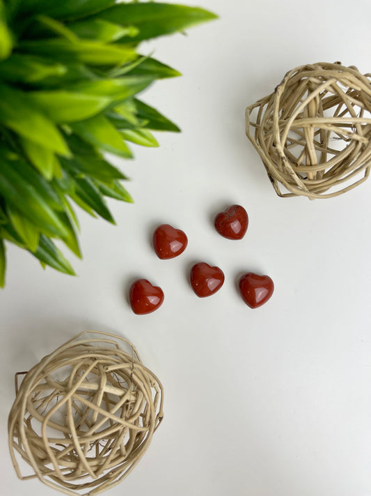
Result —
[{"label": "leftmost of the five red stone hearts, nearest the lower rattan ball", "polygon": [[164,301],[164,292],[159,286],[152,286],[147,279],[138,279],[129,290],[130,305],[134,313],[144,315],[157,310]]}]

